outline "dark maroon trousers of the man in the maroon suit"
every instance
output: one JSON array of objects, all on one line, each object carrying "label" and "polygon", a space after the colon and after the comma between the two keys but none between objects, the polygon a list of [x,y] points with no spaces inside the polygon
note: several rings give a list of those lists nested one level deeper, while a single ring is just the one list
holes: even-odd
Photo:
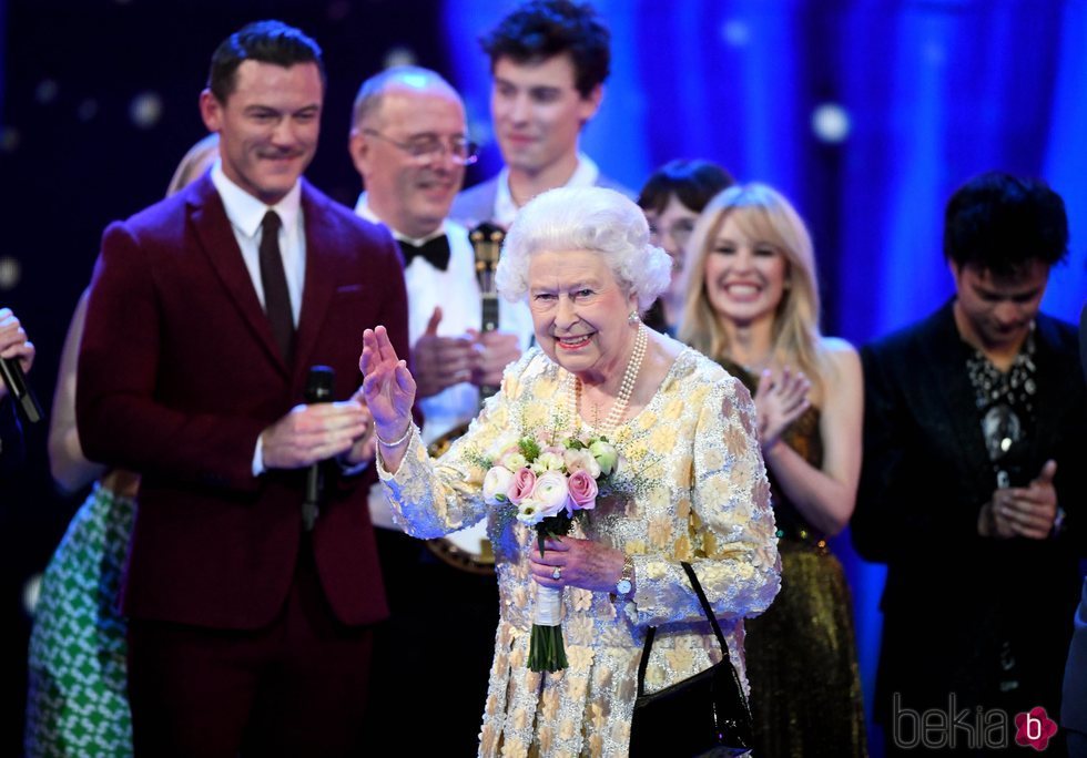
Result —
[{"label": "dark maroon trousers of the man in the maroon suit", "polygon": [[266,627],[130,621],[135,755],[359,755],[372,647],[370,627],[333,615],[304,537],[287,600]]}]

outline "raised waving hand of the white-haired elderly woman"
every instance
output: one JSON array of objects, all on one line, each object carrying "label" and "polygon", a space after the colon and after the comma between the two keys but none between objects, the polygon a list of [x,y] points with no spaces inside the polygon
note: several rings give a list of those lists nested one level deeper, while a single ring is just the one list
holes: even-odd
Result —
[{"label": "raised waving hand of the white-haired elderly woman", "polygon": [[400,439],[412,423],[415,378],[407,361],[397,357],[385,327],[363,332],[358,368],[363,372],[363,397],[374,417],[378,437]]}]

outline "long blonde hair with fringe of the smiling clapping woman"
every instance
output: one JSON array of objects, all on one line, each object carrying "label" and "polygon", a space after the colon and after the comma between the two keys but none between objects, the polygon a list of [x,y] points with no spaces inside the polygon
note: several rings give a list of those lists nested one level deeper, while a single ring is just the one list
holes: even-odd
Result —
[{"label": "long blonde hair with fringe of the smiling clapping woman", "polygon": [[814,395],[820,396],[829,366],[819,330],[812,238],[792,204],[765,184],[729,187],[711,199],[699,216],[684,266],[687,297],[679,338],[714,359],[730,356],[728,332],[705,291],[705,259],[730,216],[750,238],[773,245],[784,256],[785,289],[774,314],[771,349],[775,360],[799,366],[812,380]]}]

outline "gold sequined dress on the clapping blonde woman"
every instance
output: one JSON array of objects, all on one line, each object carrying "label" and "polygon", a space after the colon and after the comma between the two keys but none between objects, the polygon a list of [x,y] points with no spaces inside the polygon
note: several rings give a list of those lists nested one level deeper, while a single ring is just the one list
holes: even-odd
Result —
[{"label": "gold sequined dress on the clapping blonde woman", "polygon": [[[756,379],[725,360],[754,391]],[[782,440],[811,465],[823,463],[820,412],[810,407]],[[853,601],[842,564],[770,474],[781,593],[748,624],[745,648],[755,723],[754,755],[766,758],[866,756]]]}]

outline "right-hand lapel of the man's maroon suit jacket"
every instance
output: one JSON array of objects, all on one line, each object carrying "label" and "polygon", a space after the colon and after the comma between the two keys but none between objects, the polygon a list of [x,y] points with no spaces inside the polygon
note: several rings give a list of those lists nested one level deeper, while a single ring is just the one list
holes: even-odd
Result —
[{"label": "right-hand lapel of the man's maroon suit jacket", "polygon": [[302,215],[306,228],[306,279],[302,293],[302,313],[295,340],[295,371],[307,371],[328,305],[336,289],[336,250],[342,243],[335,237],[331,215],[309,184],[302,181]]}]

